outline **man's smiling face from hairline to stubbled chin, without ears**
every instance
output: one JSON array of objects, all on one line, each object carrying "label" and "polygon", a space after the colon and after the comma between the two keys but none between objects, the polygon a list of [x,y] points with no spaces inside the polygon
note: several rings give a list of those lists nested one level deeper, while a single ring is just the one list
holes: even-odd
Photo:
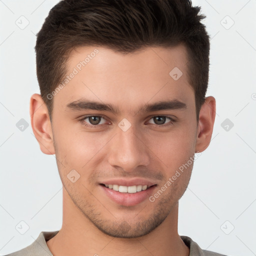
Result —
[{"label": "man's smiling face from hairline to stubbled chin, without ears", "polygon": [[63,186],[104,233],[147,234],[171,212],[192,170],[197,122],[186,49],[122,55],[87,46],[67,63],[51,124]]}]

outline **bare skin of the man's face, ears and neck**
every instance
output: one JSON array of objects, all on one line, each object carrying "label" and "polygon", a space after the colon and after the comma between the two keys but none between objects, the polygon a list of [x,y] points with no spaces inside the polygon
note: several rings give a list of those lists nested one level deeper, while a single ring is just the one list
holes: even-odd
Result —
[{"label": "bare skin of the man's face, ears and neck", "polygon": [[[209,144],[215,99],[205,98],[196,121],[194,91],[188,83],[187,52],[183,45],[146,47],[122,55],[104,47],[76,48],[67,62],[67,74],[95,48],[90,59],[53,97],[52,122],[39,94],[30,99],[31,125],[40,149],[54,154],[63,184],[63,222],[47,246],[53,255],[189,255],[178,232],[178,200],[190,179],[192,165],[155,199],[119,205],[102,193],[100,181],[139,177],[152,181],[154,194],[179,166]],[[182,76],[169,72],[177,66]],[[113,104],[120,112],[74,110],[72,101],[89,99]],[[186,108],[138,112],[146,103],[178,99]],[[85,115],[103,115],[95,128]],[[169,116],[161,123],[154,116]],[[118,123],[131,126],[123,131]],[[154,126],[155,124],[170,124]],[[68,178],[75,169],[80,177]],[[129,238],[127,238],[129,237]],[[151,254],[150,254],[151,253]]]}]

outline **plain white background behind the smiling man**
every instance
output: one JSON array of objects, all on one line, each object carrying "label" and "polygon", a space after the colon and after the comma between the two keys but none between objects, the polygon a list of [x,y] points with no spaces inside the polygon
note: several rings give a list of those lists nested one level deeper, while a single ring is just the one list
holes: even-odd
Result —
[{"label": "plain white background behind the smiling man", "polygon": [[[62,223],[62,183],[55,157],[40,151],[29,116],[30,95],[39,93],[35,34],[56,3],[0,0],[1,255],[31,244],[40,231],[58,230]],[[194,0],[193,5],[201,6],[207,16],[203,22],[211,50],[206,95],[213,95],[217,106],[211,144],[196,159],[179,201],[178,231],[201,248],[252,256],[256,253],[256,0]],[[24,29],[15,24],[21,15],[29,21]],[[23,131],[16,127],[21,118],[29,123]],[[221,126],[226,118],[234,124],[228,131]],[[29,226],[24,234],[15,229],[21,220]]]}]

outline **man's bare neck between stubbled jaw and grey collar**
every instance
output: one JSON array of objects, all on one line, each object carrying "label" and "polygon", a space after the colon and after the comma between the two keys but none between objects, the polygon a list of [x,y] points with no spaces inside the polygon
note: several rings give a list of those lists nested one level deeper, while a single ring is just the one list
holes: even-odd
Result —
[{"label": "man's bare neck between stubbled jaw and grey collar", "polygon": [[177,233],[177,220],[178,203],[150,233],[136,238],[111,237],[102,233],[83,215],[63,187],[62,227],[46,244],[53,256],[188,256],[189,248]]}]

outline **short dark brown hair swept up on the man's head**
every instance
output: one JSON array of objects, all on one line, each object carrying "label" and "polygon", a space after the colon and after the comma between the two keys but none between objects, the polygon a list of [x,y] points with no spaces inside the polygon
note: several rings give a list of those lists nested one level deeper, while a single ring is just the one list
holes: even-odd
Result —
[{"label": "short dark brown hair swept up on the man's head", "polygon": [[51,93],[66,75],[66,61],[78,46],[106,46],[123,54],[145,46],[175,46],[188,52],[188,77],[196,117],[208,86],[209,35],[204,15],[190,0],[61,0],[37,33],[36,73],[42,99],[52,112]]}]

